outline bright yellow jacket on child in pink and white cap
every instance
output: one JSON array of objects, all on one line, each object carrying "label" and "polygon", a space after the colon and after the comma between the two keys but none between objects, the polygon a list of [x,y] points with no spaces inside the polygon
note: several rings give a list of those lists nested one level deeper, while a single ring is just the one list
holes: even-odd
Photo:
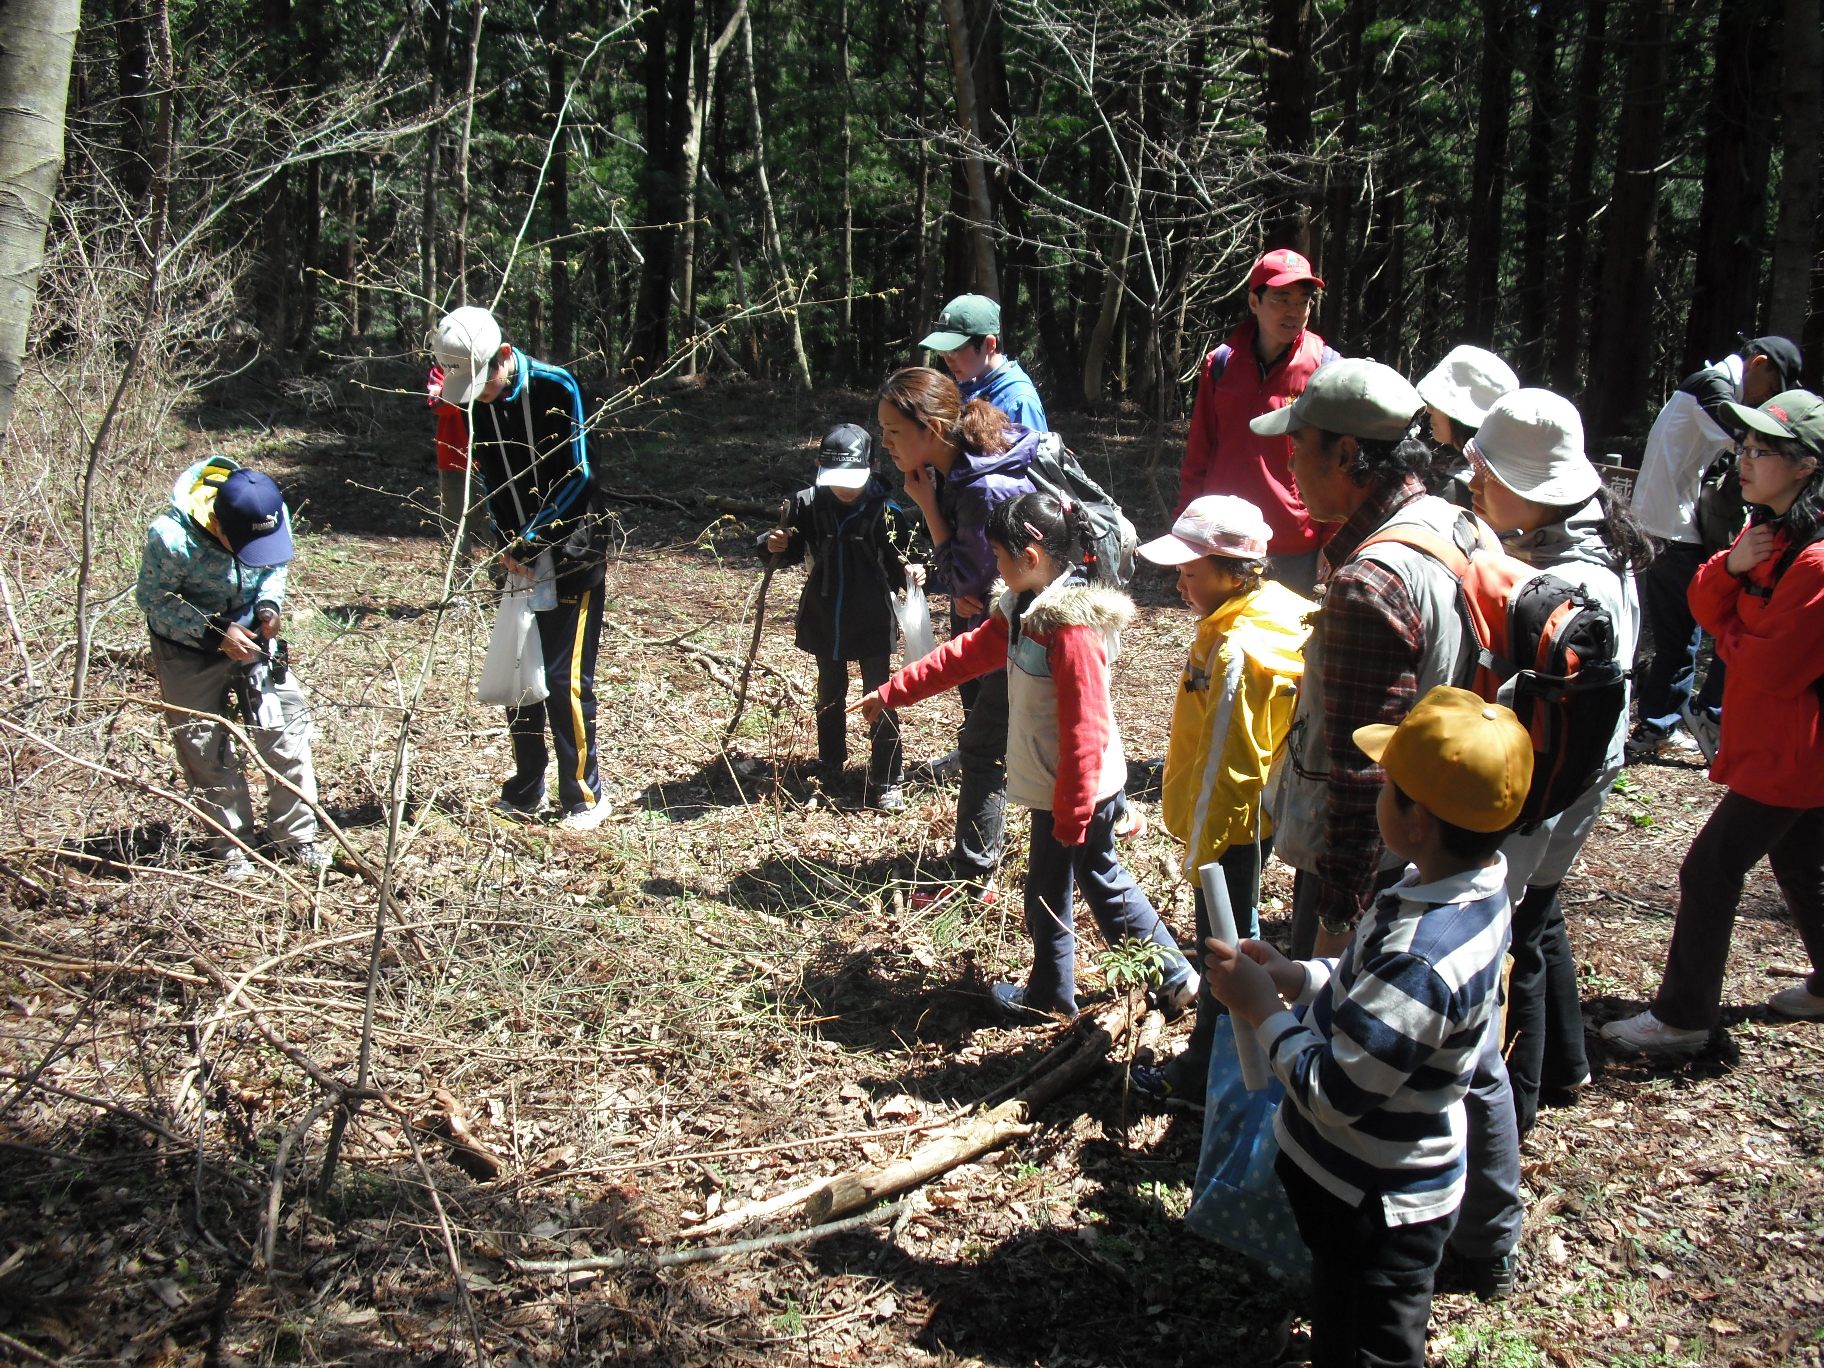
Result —
[{"label": "bright yellow jacket on child in pink and white cap", "polygon": [[[1291,726],[1315,611],[1310,598],[1266,580],[1197,624],[1160,786],[1166,830],[1184,841],[1186,877],[1237,841],[1255,839],[1260,790]],[[1271,835],[1271,821],[1260,821],[1260,835]]]}]

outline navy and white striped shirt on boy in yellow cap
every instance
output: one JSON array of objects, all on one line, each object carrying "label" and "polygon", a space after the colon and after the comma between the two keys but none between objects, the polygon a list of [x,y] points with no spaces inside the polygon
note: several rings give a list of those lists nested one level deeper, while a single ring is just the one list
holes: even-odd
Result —
[{"label": "navy and white striped shirt on boy in yellow cap", "polygon": [[1280,1151],[1350,1206],[1375,1197],[1388,1226],[1463,1200],[1463,1094],[1501,989],[1507,861],[1375,899],[1341,959],[1306,959],[1304,1016],[1260,1023],[1286,1085]]}]

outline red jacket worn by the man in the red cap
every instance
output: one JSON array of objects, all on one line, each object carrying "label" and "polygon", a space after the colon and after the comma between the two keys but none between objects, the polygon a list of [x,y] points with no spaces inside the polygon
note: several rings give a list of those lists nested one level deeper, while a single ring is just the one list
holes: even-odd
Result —
[{"label": "red jacket worn by the man in the red cap", "polygon": [[1178,513],[1198,494],[1238,494],[1273,529],[1268,554],[1302,556],[1328,542],[1332,529],[1311,522],[1293,489],[1291,438],[1255,436],[1248,421],[1304,394],[1311,372],[1335,359],[1335,352],[1306,328],[1262,376],[1255,332],[1249,317],[1233,332],[1228,350],[1218,347],[1204,358],[1178,472]]}]

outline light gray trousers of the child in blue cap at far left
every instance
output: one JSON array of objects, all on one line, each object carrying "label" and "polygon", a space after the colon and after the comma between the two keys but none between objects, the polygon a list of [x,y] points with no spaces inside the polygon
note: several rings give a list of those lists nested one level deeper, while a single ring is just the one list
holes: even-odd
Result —
[{"label": "light gray trousers of the child in blue cap at far left", "polygon": [[[151,668],[159,675],[159,697],[177,708],[195,708],[202,713],[230,717],[228,682],[235,662],[219,651],[201,655],[182,646],[151,638]],[[248,728],[261,757],[285,775],[297,790],[317,801],[317,775],[310,764],[310,704],[295,673],[286,673],[283,684],[268,684],[268,710],[275,702],[281,726]],[[233,737],[219,720],[166,713],[171,726],[171,744],[177,762],[190,781],[195,804],[223,830],[248,845],[255,845],[254,795],[246,786],[244,757]],[[266,781],[266,830],[281,850],[294,850],[317,839],[317,817],[295,793],[283,784]],[[208,835],[210,850],[226,854],[232,843],[219,832]]]}]

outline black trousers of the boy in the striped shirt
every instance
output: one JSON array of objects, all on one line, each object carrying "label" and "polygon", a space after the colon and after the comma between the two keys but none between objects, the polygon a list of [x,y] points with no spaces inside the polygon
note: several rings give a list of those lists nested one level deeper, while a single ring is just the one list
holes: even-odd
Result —
[{"label": "black trousers of the boy in the striped shirt", "polygon": [[1273,1167],[1311,1249],[1311,1368],[1425,1368],[1432,1282],[1456,1217],[1388,1226],[1379,1197],[1352,1207],[1284,1155]]}]

